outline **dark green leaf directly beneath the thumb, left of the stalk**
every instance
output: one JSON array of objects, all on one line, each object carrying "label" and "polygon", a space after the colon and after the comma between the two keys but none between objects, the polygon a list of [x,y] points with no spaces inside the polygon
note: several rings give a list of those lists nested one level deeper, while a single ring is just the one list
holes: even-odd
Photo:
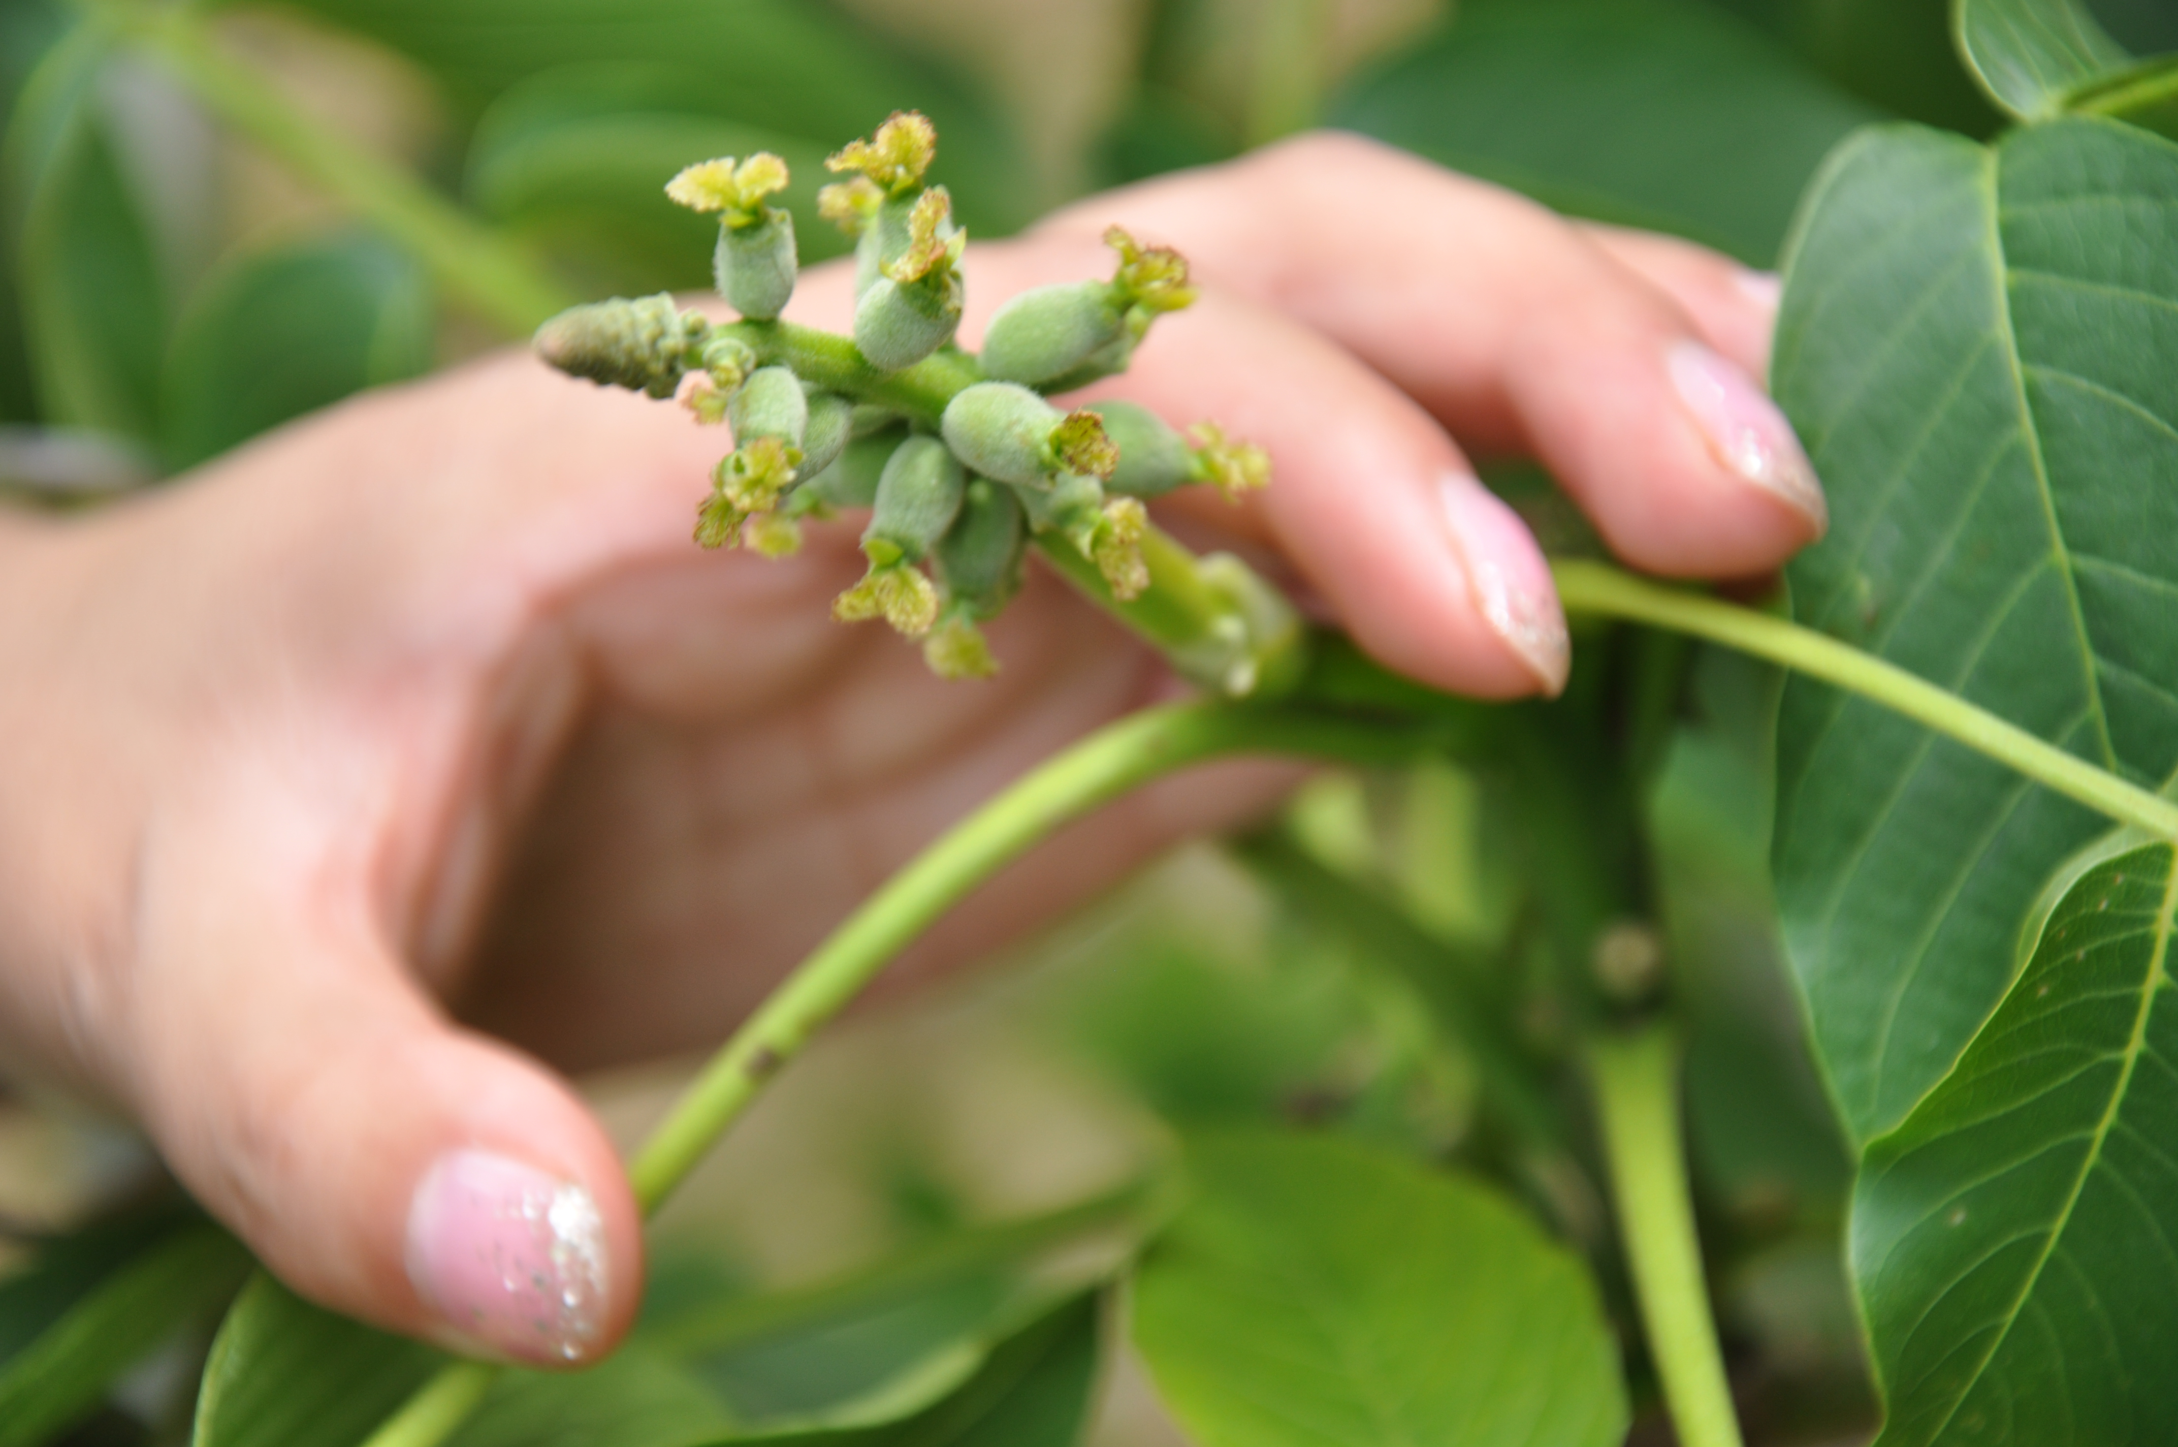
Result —
[{"label": "dark green leaf directly beneath the thumb, left of the stalk", "polygon": [[446,1360],[257,1273],[211,1342],[192,1447],[355,1447]]}]

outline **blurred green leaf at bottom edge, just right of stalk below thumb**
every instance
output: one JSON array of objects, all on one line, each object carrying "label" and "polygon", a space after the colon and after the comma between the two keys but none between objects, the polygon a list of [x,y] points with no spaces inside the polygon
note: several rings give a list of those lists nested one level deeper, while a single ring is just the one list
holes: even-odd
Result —
[{"label": "blurred green leaf at bottom edge, just right of stalk below thumb", "polygon": [[449,1447],[693,1447],[732,1427],[699,1382],[629,1342],[579,1373],[501,1373]]}]

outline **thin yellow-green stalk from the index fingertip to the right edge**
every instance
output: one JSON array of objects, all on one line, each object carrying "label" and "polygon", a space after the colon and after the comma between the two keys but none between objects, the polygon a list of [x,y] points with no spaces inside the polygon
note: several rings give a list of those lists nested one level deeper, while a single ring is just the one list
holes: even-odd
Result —
[{"label": "thin yellow-green stalk from the index fingertip to the right edge", "polygon": [[1869,697],[1986,754],[2039,785],[2161,839],[2178,839],[2178,804],[2097,769],[2015,723],[1938,689],[1925,678],[1799,623],[1714,597],[1644,582],[1601,562],[1559,562],[1557,595],[1568,612],[1594,612],[1725,643],[1810,678]]}]

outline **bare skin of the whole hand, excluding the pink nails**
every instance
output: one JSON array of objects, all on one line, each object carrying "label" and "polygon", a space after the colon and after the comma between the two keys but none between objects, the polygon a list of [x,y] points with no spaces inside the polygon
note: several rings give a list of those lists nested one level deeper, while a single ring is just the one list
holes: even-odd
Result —
[{"label": "bare skin of the whole hand, excluding the pink nails", "polygon": [[[1368,224],[1355,224],[1361,198]],[[1106,275],[1122,222],[1204,301],[1106,388],[1265,445],[1246,508],[1167,514],[1392,667],[1538,678],[1461,584],[1435,479],[1533,453],[1629,564],[1736,577],[1819,525],[1732,475],[1666,349],[1751,375],[1769,305],[1692,246],[1568,224],[1353,137],[1082,203],[971,251],[963,340]],[[791,316],[845,327],[841,270]],[[560,1070],[719,1039],[915,848],[1174,682],[1037,577],[1004,673],[943,684],[795,560],[688,543],[721,431],[510,353],[359,397],[76,521],[0,512],[0,1057],[126,1111],[305,1294],[442,1329],[416,1181],[479,1146],[582,1181],[640,1297],[619,1162]],[[904,961],[969,957],[1292,780],[1222,765],[1021,861]]]}]

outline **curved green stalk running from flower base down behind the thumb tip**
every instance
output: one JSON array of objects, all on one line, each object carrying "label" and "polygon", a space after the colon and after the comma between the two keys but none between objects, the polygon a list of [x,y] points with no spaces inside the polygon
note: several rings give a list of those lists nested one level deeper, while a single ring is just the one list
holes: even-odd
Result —
[{"label": "curved green stalk running from flower base down behind the thumb tip", "polygon": [[[917,854],[817,946],[710,1059],[627,1168],[649,1216],[756,1101],[764,1083],[923,928],[1052,830],[1163,774],[1224,754],[1403,763],[1424,734],[1248,704],[1148,708],[1082,739]],[[438,1447],[484,1399],[497,1366],[451,1362],[364,1447]]]}]

